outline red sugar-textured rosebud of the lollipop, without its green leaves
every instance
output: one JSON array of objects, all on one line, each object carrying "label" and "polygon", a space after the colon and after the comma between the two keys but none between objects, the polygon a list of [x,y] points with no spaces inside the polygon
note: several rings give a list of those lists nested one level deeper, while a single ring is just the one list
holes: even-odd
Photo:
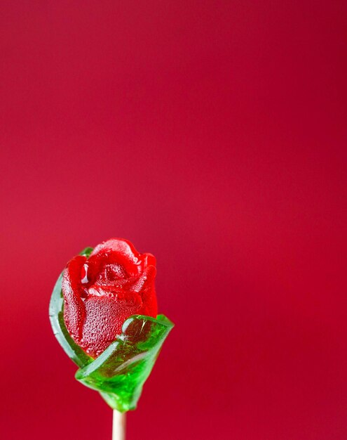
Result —
[{"label": "red sugar-textured rosebud of the lollipop, without its green leaves", "polygon": [[121,334],[124,321],[157,315],[156,259],[122,238],[69,261],[62,278],[64,321],[74,342],[97,358]]}]

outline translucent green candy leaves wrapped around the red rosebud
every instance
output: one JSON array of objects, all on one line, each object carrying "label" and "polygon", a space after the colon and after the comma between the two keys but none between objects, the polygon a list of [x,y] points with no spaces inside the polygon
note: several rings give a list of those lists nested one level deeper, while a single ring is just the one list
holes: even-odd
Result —
[{"label": "translucent green candy leaves wrapped around the red rosebud", "polygon": [[[92,248],[86,248],[81,255],[88,257],[91,251]],[[121,335],[93,359],[74,342],[65,326],[62,274],[50,298],[49,316],[62,349],[79,366],[76,379],[100,392],[112,409],[121,413],[135,409],[144,382],[174,324],[164,315],[130,316],[123,323]]]}]

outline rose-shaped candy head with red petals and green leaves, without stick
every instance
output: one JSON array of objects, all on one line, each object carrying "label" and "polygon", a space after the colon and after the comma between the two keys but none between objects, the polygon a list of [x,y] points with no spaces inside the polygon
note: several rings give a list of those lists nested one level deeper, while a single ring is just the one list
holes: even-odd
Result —
[{"label": "rose-shaped candy head with red petals and green leaves, without stick", "polygon": [[156,315],[156,259],[120,238],[69,261],[50,299],[50,323],[76,379],[114,410],[135,409],[173,324]]}]

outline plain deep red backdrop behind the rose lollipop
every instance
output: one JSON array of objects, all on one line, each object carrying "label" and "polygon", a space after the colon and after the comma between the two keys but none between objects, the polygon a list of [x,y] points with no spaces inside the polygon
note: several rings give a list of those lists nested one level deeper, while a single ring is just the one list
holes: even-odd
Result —
[{"label": "plain deep red backdrop behind the rose lollipop", "polygon": [[110,439],[48,302],[112,236],[176,323],[129,440],[346,439],[346,1],[0,17],[1,439]]}]

